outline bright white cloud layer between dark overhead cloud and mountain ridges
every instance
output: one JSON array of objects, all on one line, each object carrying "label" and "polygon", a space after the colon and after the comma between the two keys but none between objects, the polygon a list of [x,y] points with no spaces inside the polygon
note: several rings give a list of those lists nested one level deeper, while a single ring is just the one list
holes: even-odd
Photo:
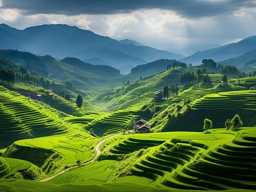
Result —
[{"label": "bright white cloud layer between dark overhead cloud and mountain ridges", "polygon": [[[1,2],[1,0],[0,0]],[[225,44],[256,35],[256,9],[242,8],[230,15],[184,18],[175,11],[146,9],[112,15],[22,15],[17,9],[1,9],[0,22],[18,29],[41,24],[68,24],[117,40],[143,44],[159,42]]]}]

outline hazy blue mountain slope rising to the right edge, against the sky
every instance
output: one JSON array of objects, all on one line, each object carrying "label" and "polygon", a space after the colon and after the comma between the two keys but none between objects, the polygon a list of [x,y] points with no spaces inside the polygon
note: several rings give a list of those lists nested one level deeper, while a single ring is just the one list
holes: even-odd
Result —
[{"label": "hazy blue mountain slope rising to the right edge, against the sky", "polygon": [[197,65],[200,64],[203,59],[213,59],[217,62],[238,57],[239,55],[243,55],[253,49],[256,49],[256,35],[215,49],[198,51],[197,53],[181,59],[180,61]]}]

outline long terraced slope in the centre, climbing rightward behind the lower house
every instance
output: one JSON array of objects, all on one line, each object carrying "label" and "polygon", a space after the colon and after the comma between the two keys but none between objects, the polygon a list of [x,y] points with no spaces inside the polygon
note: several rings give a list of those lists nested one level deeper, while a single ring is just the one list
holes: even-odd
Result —
[{"label": "long terraced slope in the centre, climbing rightward behind the lower house", "polygon": [[98,136],[122,132],[128,121],[132,117],[139,118],[134,114],[147,102],[151,101],[154,92],[162,90],[164,85],[169,82],[178,82],[178,78],[182,71],[173,69],[165,71],[150,79],[146,79],[139,84],[139,87],[130,90],[125,95],[119,97],[108,97],[113,93],[105,93],[99,95],[92,100],[92,104],[107,105],[108,108],[115,108],[115,112],[106,114],[103,117],[95,119],[88,125],[86,130],[93,129]]}]

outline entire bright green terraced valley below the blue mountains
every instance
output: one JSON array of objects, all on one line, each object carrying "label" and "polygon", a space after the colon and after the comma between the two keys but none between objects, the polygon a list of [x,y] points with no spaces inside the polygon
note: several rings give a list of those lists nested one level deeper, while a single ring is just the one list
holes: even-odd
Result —
[{"label": "entire bright green terraced valley below the blue mountains", "polygon": [[[99,93],[2,82],[0,191],[255,191],[255,77],[181,84],[185,71]],[[166,84],[177,93],[156,99]]]}]

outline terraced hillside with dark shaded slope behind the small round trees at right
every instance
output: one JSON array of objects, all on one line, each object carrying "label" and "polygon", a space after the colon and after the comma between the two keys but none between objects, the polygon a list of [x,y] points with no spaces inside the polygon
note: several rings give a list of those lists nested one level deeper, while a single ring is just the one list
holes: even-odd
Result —
[{"label": "terraced hillside with dark shaded slope behind the small round trees at right", "polygon": [[[218,87],[205,90],[190,90],[187,92],[187,98],[191,98],[189,94],[193,94],[193,98],[200,97],[191,102],[191,100],[183,100],[180,103],[172,104],[166,109],[161,110],[154,115],[148,124],[152,127],[152,131],[174,131],[174,130],[190,130],[198,131],[204,123],[204,119],[211,119],[215,128],[224,126],[227,119],[232,119],[235,114],[239,114],[244,121],[245,126],[254,126],[256,121],[255,111],[255,91],[243,90],[243,87]],[[230,90],[241,90],[231,91]],[[227,91],[227,92],[225,92]],[[215,92],[215,94],[213,94]],[[222,93],[223,92],[223,93]],[[206,95],[205,95],[206,94]],[[183,92],[179,95],[185,95]],[[202,97],[202,95],[204,95]],[[177,97],[174,97],[176,99]],[[166,116],[168,114],[168,116]],[[162,119],[162,121],[159,121]],[[187,122],[189,121],[189,126]]]}]

